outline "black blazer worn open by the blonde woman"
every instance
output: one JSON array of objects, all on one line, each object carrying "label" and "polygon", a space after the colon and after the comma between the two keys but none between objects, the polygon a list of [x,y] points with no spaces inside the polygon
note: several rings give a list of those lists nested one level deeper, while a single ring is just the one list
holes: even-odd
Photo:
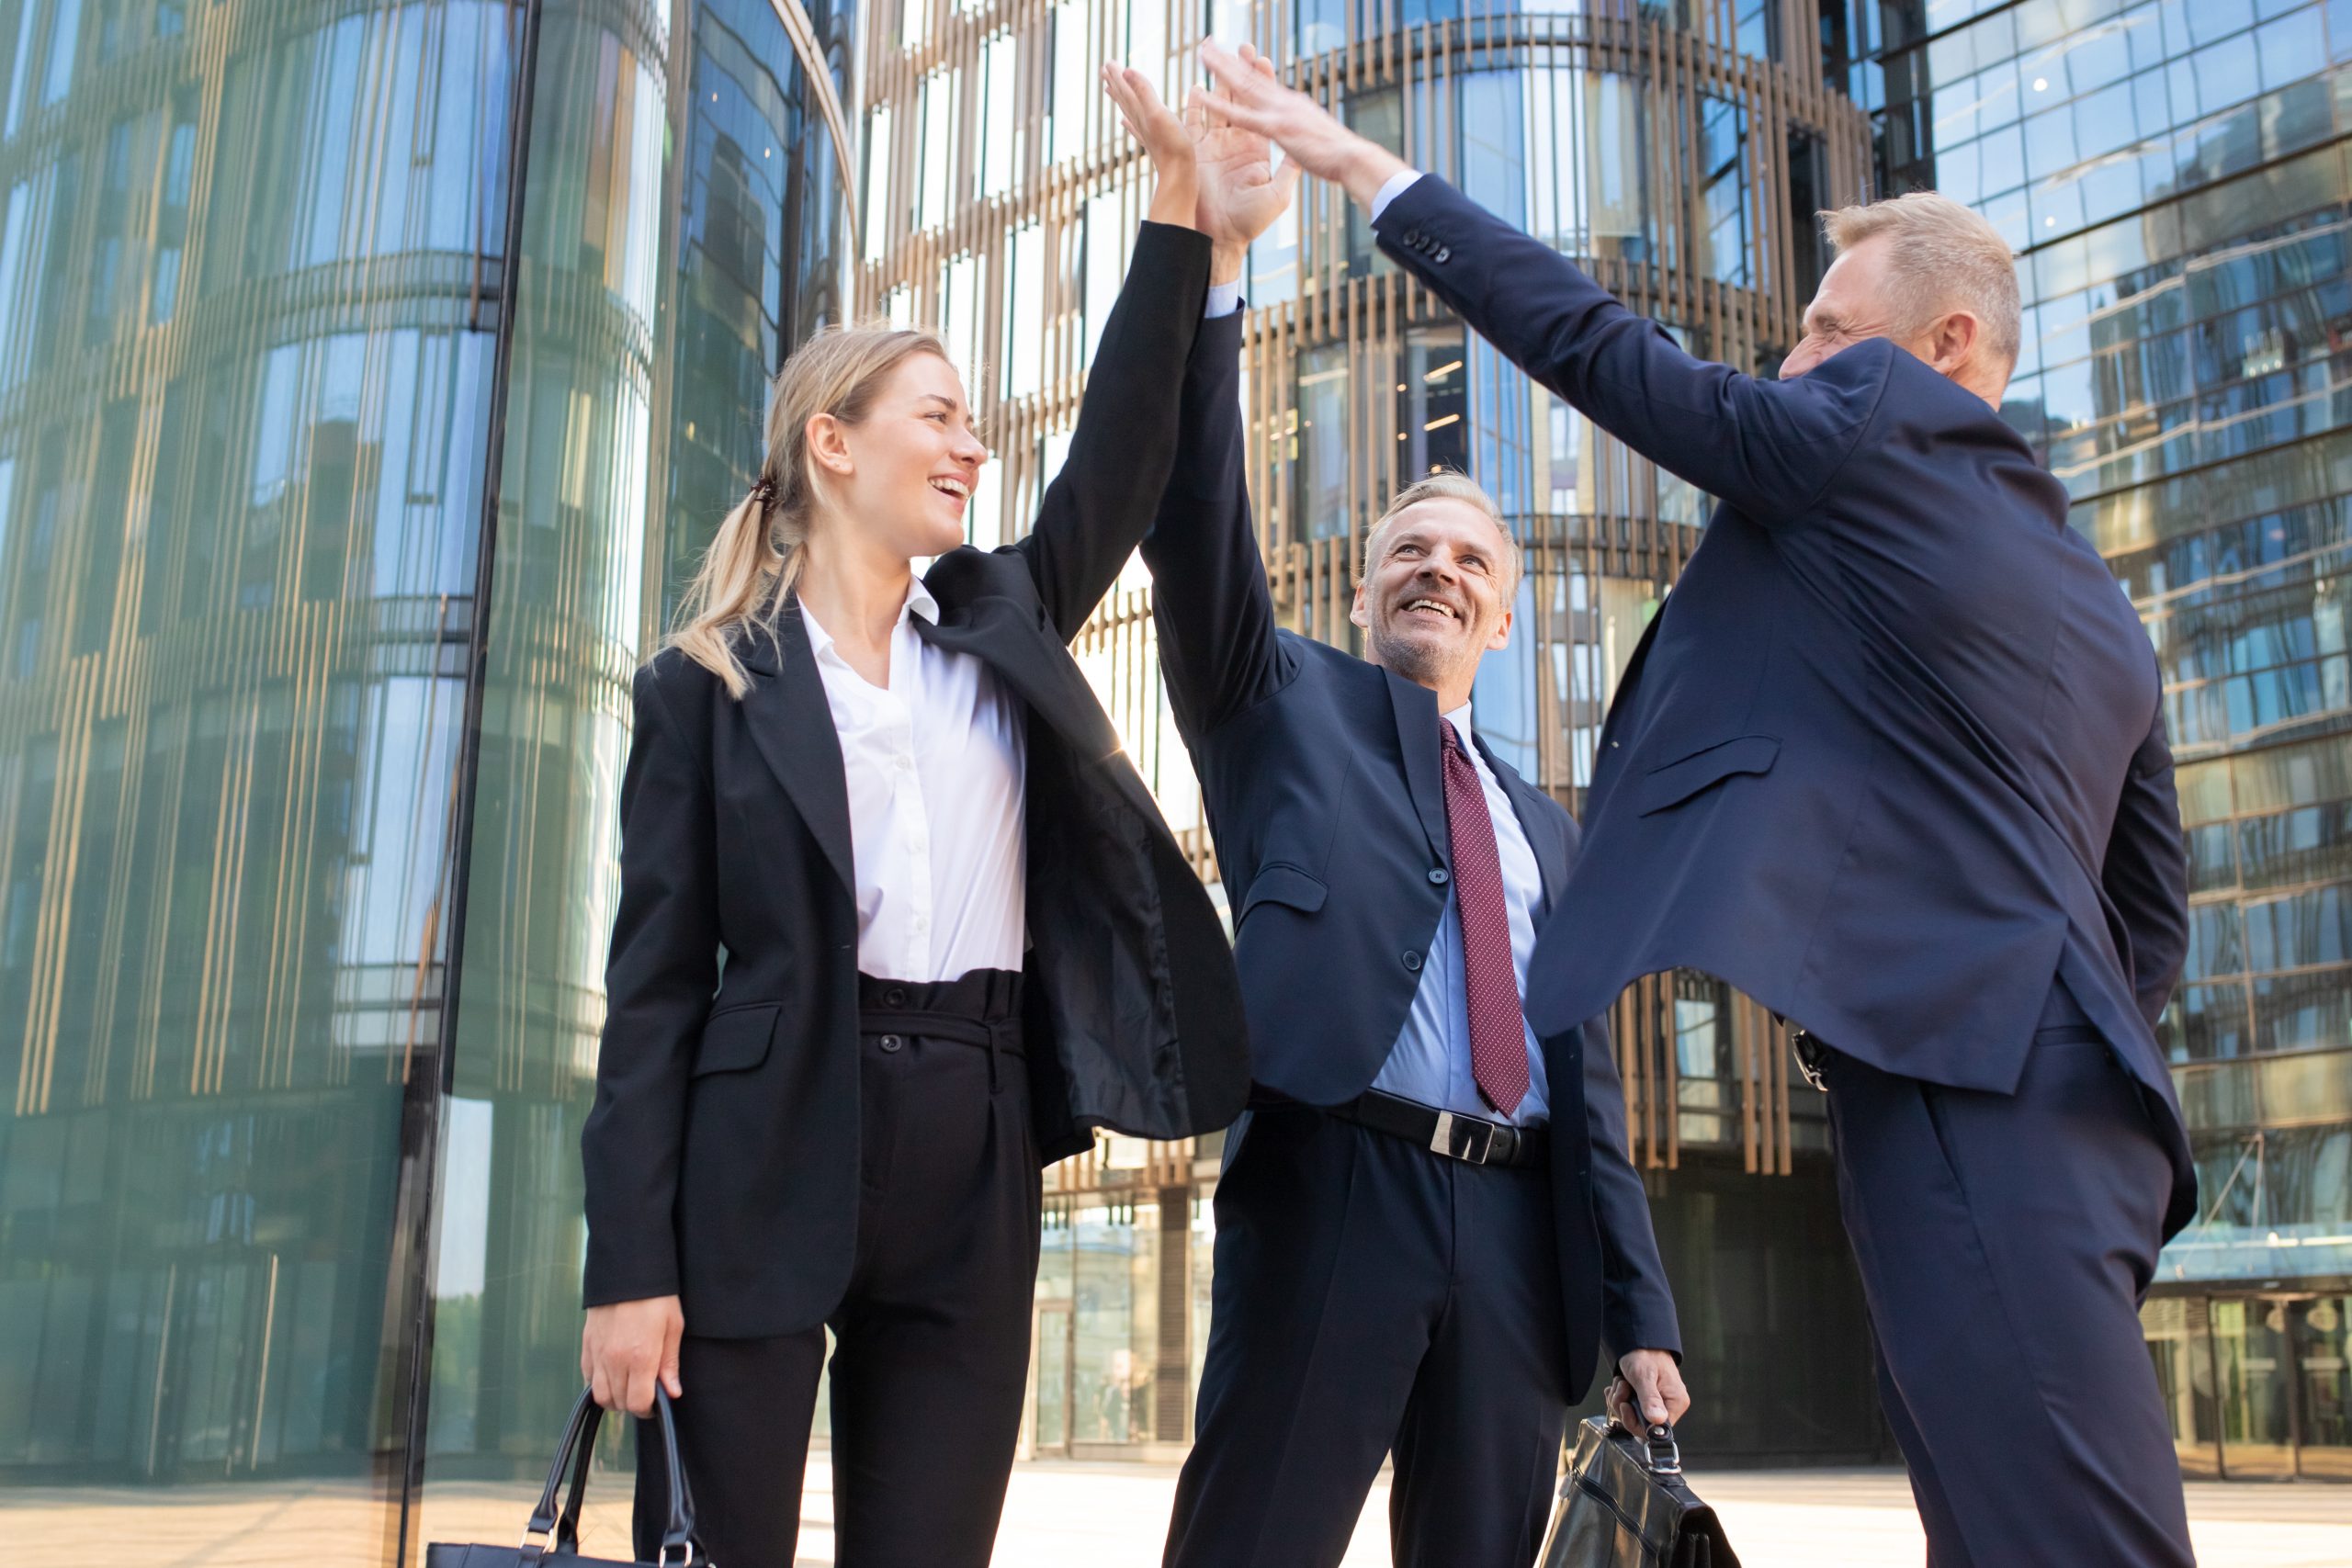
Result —
[{"label": "black blazer worn open by the blonde woman", "polygon": [[[1042,1161],[1094,1126],[1181,1138],[1247,1095],[1223,926],[1068,639],[1176,454],[1176,376],[1209,242],[1145,223],[1070,456],[1018,545],[924,576],[938,646],[1028,705],[1025,1027]],[[588,1175],[588,1305],[684,1298],[699,1335],[797,1333],[856,1241],[858,1006],[849,797],[797,604],[741,646],[741,703],[677,651],[637,672],[621,910]],[[724,966],[722,966],[724,954]]]}]

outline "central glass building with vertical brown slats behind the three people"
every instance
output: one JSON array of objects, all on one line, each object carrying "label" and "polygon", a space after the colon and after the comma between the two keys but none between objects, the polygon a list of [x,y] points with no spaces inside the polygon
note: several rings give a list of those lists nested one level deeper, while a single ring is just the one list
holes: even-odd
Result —
[{"label": "central glass building with vertical brown slats behind the three people", "polygon": [[[948,334],[1000,458],[974,534],[1025,527],[1148,188],[1094,63],[1124,59],[1171,94],[1192,75],[1190,40],[1214,28],[1576,254],[1693,350],[1771,369],[1825,263],[1813,212],[1870,183],[1849,31],[1830,21],[1811,0],[889,0],[866,19],[856,301]],[[1479,733],[1573,809],[1616,675],[1705,501],[1465,336],[1317,181],[1258,244],[1247,289],[1249,477],[1284,623],[1352,646],[1364,527],[1402,482],[1468,468],[1529,550],[1512,646],[1477,689]],[[1141,576],[1082,654],[1214,884]],[[1625,997],[1616,1037],[1703,1389],[1689,1441],[1717,1460],[1891,1453],[1820,1098],[1790,1081],[1778,1030],[1724,985],[1672,976]],[[1216,1154],[1216,1138],[1108,1140],[1049,1173],[1037,1453],[1188,1441]]]}]

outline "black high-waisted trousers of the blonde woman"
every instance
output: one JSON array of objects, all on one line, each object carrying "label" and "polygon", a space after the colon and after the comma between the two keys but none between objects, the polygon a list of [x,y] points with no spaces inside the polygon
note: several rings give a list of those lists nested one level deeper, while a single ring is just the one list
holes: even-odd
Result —
[{"label": "black high-waisted trousers of the blonde woman", "polygon": [[[858,978],[858,1244],[828,1319],[842,1568],[985,1568],[995,1549],[1037,1281],[1018,985],[1002,971],[936,985]],[[823,1361],[816,1326],[769,1340],[687,1335],[677,1439],[720,1568],[790,1568]],[[637,1434],[644,1561],[663,1516],[649,1439]]]}]

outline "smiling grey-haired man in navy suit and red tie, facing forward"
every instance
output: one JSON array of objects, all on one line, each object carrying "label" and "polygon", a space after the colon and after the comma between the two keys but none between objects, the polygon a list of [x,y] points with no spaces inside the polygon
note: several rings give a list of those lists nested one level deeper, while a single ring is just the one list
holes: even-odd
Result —
[{"label": "smiling grey-haired man in navy suit and red tie, facing forward", "polygon": [[[1225,176],[1265,179],[1251,141],[1204,150],[1204,202]],[[1395,1453],[1397,1563],[1524,1568],[1597,1345],[1628,1420],[1689,1399],[1609,1039],[1581,1020],[1538,1034],[1522,1006],[1576,825],[1470,722],[1519,552],[1484,491],[1425,480],[1364,548],[1369,658],[1277,630],[1242,473],[1240,266],[1211,263],[1176,475],[1143,541],[1254,1079],[1216,1190],[1167,1561],[1338,1563]]]}]

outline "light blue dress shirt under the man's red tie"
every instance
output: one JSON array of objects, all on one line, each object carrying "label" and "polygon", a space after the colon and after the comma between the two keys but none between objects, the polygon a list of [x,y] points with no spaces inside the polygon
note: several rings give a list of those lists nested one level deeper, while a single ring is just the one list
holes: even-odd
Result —
[{"label": "light blue dress shirt under the man's red tie", "polygon": [[[1519,1110],[1503,1117],[1486,1095],[1477,1091],[1477,1074],[1470,1067],[1470,990],[1463,980],[1463,907],[1461,898],[1446,893],[1446,912],[1430,938],[1428,961],[1421,964],[1421,987],[1414,992],[1414,1009],[1404,1016],[1404,1032],[1381,1063],[1381,1077],[1371,1081],[1381,1093],[1402,1100],[1418,1100],[1437,1110],[1482,1117],[1486,1121],[1515,1121],[1534,1126],[1550,1121],[1550,1098],[1543,1074],[1543,1048],[1536,1032],[1526,1027],[1526,959],[1536,952],[1536,910],[1543,905],[1543,867],[1519,827],[1519,811],[1503,792],[1503,780],[1494,776],[1479,750],[1470,745],[1470,703],[1446,715],[1454,733],[1461,736],[1477,783],[1486,792],[1486,816],[1494,818],[1494,851],[1503,863],[1503,912],[1510,919],[1510,969],[1519,980],[1522,1020],[1526,1034],[1526,1098]],[[1449,884],[1461,886],[1456,879]]]}]

